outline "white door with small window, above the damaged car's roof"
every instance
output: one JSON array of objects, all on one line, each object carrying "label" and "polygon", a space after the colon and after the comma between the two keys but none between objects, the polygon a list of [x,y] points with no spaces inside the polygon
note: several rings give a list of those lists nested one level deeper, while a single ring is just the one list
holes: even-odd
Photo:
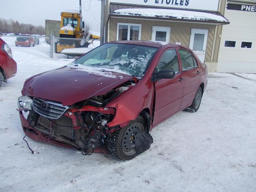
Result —
[{"label": "white door with small window, above the damaged car's roof", "polygon": [[169,43],[170,42],[170,34],[171,34],[170,27],[153,26],[152,41],[163,41],[163,42]]}]

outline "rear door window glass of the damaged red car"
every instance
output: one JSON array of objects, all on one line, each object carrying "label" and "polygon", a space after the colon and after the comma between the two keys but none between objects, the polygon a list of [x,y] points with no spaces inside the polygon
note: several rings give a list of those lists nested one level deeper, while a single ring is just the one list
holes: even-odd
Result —
[{"label": "rear door window glass of the damaged red car", "polygon": [[180,49],[179,53],[182,62],[182,70],[188,70],[197,66],[195,58],[188,50]]}]

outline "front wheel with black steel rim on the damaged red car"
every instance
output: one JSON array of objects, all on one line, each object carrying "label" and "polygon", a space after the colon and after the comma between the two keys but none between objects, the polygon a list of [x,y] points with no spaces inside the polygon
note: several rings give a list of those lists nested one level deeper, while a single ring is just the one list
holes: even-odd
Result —
[{"label": "front wheel with black steel rim on the damaged red car", "polygon": [[[137,156],[134,135],[146,129],[146,121],[142,116],[131,121],[127,126],[107,135],[106,146],[112,156],[120,160],[131,160]],[[129,143],[128,143],[129,142]]]}]

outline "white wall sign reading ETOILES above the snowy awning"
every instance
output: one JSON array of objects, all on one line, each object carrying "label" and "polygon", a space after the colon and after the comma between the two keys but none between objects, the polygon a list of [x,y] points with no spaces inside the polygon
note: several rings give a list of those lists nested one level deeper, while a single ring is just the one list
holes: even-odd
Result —
[{"label": "white wall sign reading ETOILES above the snowy awning", "polygon": [[146,6],[218,11],[219,0],[110,0],[113,3],[128,3]]}]

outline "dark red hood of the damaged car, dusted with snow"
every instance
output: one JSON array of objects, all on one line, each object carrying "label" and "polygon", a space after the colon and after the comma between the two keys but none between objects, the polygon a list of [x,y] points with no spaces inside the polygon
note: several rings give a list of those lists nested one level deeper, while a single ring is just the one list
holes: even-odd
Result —
[{"label": "dark red hood of the damaged car, dusted with snow", "polygon": [[118,72],[64,66],[27,79],[22,95],[70,106],[93,96],[104,95],[131,78]]}]

